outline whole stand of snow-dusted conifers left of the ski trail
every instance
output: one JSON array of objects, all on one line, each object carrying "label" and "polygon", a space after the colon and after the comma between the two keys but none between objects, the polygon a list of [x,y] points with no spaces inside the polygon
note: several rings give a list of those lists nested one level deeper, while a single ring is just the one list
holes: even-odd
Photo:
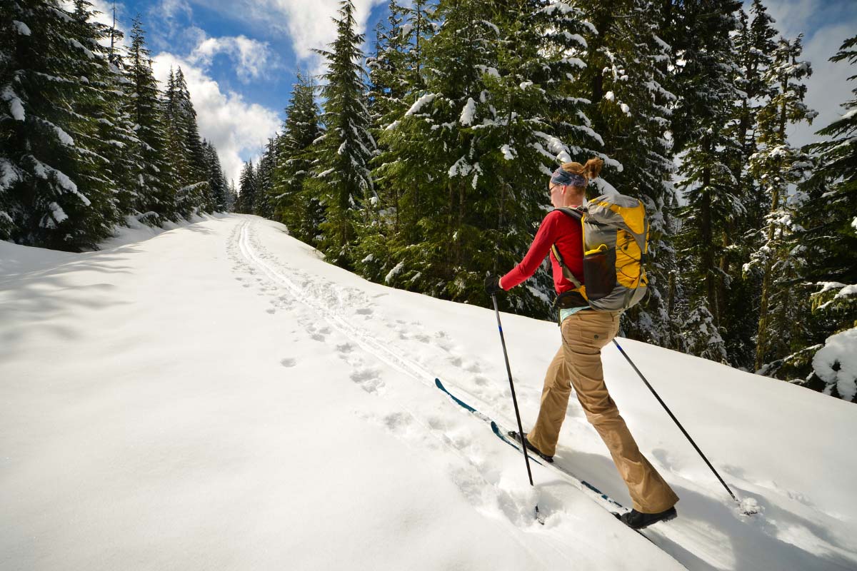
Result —
[{"label": "whole stand of snow-dusted conifers left of the ski trail", "polygon": [[74,252],[128,217],[230,208],[182,70],[159,86],[140,18],[124,47],[92,4],[64,6],[0,2],[0,239]]}]

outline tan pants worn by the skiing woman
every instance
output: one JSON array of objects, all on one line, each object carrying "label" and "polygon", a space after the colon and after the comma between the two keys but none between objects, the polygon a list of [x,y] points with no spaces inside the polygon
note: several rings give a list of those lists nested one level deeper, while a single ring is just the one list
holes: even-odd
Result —
[{"label": "tan pants worn by the skiing woman", "polygon": [[542,407],[527,439],[542,453],[554,455],[573,385],[586,419],[607,444],[625,479],[634,509],[656,514],[671,508],[679,497],[640,454],[604,383],[601,349],[619,332],[619,318],[620,312],[583,310],[563,320],[562,347],[548,366]]}]

